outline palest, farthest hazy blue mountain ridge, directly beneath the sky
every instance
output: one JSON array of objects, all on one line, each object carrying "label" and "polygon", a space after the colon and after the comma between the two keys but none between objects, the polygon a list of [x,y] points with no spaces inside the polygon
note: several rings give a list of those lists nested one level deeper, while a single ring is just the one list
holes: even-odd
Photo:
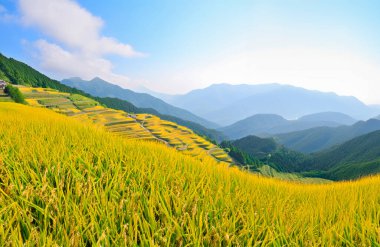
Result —
[{"label": "palest, farthest hazy blue mountain ridge, directly beneath the sky", "polygon": [[362,120],[379,114],[379,109],[352,96],[280,84],[217,84],[185,95],[157,96],[221,126],[268,113],[296,119],[313,113],[341,112]]}]

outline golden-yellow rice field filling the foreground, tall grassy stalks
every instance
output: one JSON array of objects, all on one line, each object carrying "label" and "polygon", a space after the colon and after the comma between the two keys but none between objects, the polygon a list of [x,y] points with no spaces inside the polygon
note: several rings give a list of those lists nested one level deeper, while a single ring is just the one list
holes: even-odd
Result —
[{"label": "golden-yellow rice field filling the foreground, tall grassy stalks", "polygon": [[380,246],[380,176],[297,184],[0,103],[0,246]]}]

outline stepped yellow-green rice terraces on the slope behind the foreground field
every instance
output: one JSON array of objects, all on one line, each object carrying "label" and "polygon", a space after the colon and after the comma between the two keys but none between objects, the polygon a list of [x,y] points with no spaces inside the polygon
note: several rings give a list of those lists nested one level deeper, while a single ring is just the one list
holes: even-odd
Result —
[{"label": "stepped yellow-green rice terraces on the slope behind the foreground field", "polygon": [[82,121],[104,126],[108,131],[129,139],[158,141],[191,156],[210,155],[231,163],[228,154],[192,130],[151,114],[133,114],[101,106],[81,95],[49,88],[19,86],[29,105],[45,107]]}]

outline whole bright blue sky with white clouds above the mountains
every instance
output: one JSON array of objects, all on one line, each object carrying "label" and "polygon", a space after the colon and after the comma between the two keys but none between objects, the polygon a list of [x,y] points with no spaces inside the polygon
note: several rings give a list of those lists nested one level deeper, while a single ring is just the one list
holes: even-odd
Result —
[{"label": "whole bright blue sky with white clouds above the mountains", "polygon": [[0,52],[169,94],[282,83],[380,104],[378,0],[0,0]]}]

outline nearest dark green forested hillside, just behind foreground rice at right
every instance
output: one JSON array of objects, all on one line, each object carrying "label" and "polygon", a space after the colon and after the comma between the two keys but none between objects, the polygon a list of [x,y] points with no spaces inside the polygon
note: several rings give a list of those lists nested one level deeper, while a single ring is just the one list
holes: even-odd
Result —
[{"label": "nearest dark green forested hillside, just behind foreground rice at right", "polygon": [[279,145],[273,138],[257,136],[225,141],[222,146],[233,150],[235,159],[257,159],[259,163],[253,164],[256,169],[269,164],[277,171],[330,180],[356,179],[380,172],[380,130],[314,154],[298,153]]}]

